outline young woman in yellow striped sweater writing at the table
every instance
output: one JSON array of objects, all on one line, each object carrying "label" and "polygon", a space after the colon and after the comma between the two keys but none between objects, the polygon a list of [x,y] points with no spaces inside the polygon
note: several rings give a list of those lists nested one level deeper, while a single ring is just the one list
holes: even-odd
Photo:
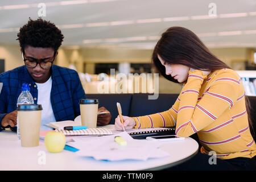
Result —
[{"label": "young woman in yellow striped sweater writing at the table", "polygon": [[[201,153],[173,169],[255,170],[256,144],[240,76],[183,27],[171,27],[162,34],[152,60],[165,78],[183,83],[183,89],[167,111],[123,116],[125,129],[176,126],[181,137],[197,133]],[[117,117],[115,129],[122,128]],[[210,151],[217,154],[216,165],[208,162]]]}]

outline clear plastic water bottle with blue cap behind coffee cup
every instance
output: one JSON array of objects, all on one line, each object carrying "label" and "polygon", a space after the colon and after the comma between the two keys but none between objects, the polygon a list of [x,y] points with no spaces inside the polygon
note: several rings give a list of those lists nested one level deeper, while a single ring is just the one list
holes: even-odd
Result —
[{"label": "clear plastic water bottle with blue cap behind coffee cup", "polygon": [[[34,99],[30,93],[30,86],[28,86],[28,84],[22,85],[22,92],[18,97],[17,107],[20,104],[34,104]],[[17,136],[18,136],[18,139],[20,139],[18,115],[17,115]]]}]

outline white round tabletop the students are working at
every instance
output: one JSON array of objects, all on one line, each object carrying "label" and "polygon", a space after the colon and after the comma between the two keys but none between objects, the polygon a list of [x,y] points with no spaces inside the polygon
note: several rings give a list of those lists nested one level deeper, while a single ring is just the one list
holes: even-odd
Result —
[{"label": "white round tabletop the students are working at", "polygon": [[[0,170],[93,170],[93,171],[134,171],[158,170],[175,166],[194,156],[199,148],[196,140],[162,142],[161,150],[170,156],[158,159],[121,160],[110,162],[77,156],[75,152],[63,150],[59,153],[47,151],[44,141],[37,147],[21,147],[16,133],[0,132]],[[43,159],[43,160],[42,160]]]}]

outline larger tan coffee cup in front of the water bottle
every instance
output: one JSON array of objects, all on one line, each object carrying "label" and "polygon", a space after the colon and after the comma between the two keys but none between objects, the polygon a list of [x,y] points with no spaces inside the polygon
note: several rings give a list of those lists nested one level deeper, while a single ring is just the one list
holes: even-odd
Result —
[{"label": "larger tan coffee cup in front of the water bottle", "polygon": [[22,147],[36,147],[39,145],[42,105],[18,105],[20,142]]}]

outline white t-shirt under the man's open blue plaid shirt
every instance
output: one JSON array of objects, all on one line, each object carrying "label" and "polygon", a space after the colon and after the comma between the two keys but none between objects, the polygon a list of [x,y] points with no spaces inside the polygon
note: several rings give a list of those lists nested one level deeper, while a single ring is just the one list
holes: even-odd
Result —
[{"label": "white t-shirt under the man's open blue plaid shirt", "polygon": [[51,127],[48,127],[45,124],[56,122],[51,104],[52,77],[49,77],[43,84],[35,84],[38,87],[38,104],[41,104],[43,107],[40,130],[51,130]]}]

